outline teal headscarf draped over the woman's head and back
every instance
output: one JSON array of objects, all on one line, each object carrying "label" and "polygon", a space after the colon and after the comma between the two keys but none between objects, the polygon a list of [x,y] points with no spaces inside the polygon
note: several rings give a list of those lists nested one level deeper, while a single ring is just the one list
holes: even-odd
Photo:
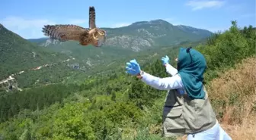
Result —
[{"label": "teal headscarf draped over the woman's head and back", "polygon": [[206,70],[206,59],[203,54],[193,48],[180,48],[178,54],[178,73],[184,84],[187,95],[204,98],[203,73]]}]

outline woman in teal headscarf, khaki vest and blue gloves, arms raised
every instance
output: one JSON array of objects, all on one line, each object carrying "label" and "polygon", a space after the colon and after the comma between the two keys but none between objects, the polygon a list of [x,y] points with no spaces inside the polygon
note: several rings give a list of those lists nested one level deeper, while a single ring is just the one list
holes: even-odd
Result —
[{"label": "woman in teal headscarf, khaki vest and blue gloves, arms raised", "polygon": [[167,90],[163,110],[163,135],[187,135],[188,140],[231,140],[219,126],[216,114],[203,86],[203,73],[206,59],[193,48],[180,48],[178,69],[168,64],[169,58],[162,63],[171,77],[159,78],[140,70],[135,59],[126,63],[126,73],[141,79],[147,85],[159,90]]}]

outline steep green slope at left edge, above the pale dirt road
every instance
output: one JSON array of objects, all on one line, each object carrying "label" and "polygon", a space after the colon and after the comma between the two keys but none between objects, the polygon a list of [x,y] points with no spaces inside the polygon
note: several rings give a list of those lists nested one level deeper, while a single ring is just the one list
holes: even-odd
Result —
[{"label": "steep green slope at left edge, above the pale dirt road", "polygon": [[0,24],[1,78],[11,73],[17,73],[19,70],[26,70],[67,58],[65,54],[34,45]]}]

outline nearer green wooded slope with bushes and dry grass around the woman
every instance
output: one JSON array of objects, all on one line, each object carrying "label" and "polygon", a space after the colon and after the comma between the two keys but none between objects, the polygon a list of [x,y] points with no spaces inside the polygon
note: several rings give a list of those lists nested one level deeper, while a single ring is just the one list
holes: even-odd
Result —
[{"label": "nearer green wooded slope with bushes and dry grass around the woman", "polygon": [[[256,97],[255,38],[255,30],[246,28],[241,32],[234,21],[226,32],[212,36],[206,44],[194,46],[206,56],[205,82],[219,122],[236,125],[236,129],[249,124],[244,118],[255,120],[256,106],[252,98]],[[157,57],[148,60],[140,58],[140,55],[134,57],[142,70],[164,77],[167,73],[161,58],[167,54],[174,64],[179,47],[165,46]],[[91,75],[82,83],[58,83],[2,94],[0,138],[164,139],[161,138],[161,123],[166,92],[152,89],[135,77],[126,75],[124,66],[130,59],[120,61],[119,67],[110,65],[107,67],[110,73]],[[237,67],[242,61],[244,63]],[[237,73],[230,70],[234,67],[239,70]],[[226,74],[222,76],[223,72]],[[233,76],[239,79],[235,80]],[[255,138],[254,133],[247,130],[241,129],[239,134]],[[232,134],[235,129],[230,131]]]}]

